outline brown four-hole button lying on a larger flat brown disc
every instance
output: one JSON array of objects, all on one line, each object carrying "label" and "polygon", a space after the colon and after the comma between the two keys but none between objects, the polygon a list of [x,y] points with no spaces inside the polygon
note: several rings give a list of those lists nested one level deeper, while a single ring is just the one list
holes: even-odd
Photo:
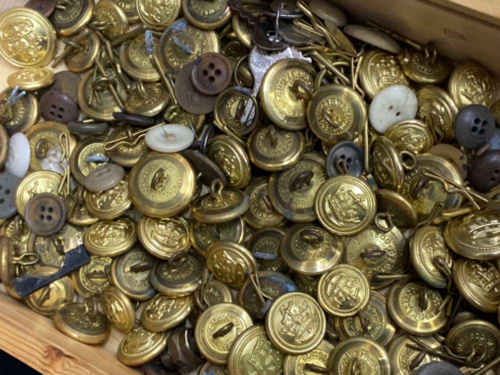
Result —
[{"label": "brown four-hole button lying on a larger flat brown disc", "polygon": [[203,94],[219,94],[231,81],[231,65],[223,55],[207,52],[194,62],[191,80]]}]

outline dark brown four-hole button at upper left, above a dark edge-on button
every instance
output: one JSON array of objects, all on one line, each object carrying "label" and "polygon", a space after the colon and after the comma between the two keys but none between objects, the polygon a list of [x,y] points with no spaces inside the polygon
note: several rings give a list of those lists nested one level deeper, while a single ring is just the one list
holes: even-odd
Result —
[{"label": "dark brown four-hole button at upper left, above a dark edge-on button", "polygon": [[40,98],[42,116],[47,121],[68,124],[78,120],[78,104],[65,93],[49,91]]}]

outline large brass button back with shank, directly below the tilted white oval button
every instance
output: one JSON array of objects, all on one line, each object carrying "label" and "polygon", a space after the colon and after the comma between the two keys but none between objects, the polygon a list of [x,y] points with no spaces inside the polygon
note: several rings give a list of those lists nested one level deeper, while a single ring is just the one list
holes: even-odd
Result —
[{"label": "large brass button back with shank, directly below the tilted white oval button", "polygon": [[145,215],[170,217],[184,210],[195,193],[193,168],[178,153],[150,152],[130,171],[129,194]]}]

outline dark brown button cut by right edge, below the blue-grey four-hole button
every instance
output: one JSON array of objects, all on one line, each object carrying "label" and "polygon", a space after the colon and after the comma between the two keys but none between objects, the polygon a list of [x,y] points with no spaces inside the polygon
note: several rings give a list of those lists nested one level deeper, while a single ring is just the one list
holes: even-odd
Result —
[{"label": "dark brown button cut by right edge, below the blue-grey four-hole button", "polygon": [[477,156],[470,168],[469,180],[479,192],[500,184],[500,150],[488,150]]}]

